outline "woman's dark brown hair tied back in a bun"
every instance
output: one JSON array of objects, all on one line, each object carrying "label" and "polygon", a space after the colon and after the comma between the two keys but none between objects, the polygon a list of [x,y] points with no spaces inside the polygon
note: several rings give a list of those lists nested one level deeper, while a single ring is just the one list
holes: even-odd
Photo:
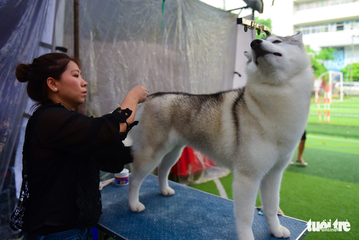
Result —
[{"label": "woman's dark brown hair tied back in a bun", "polygon": [[80,59],[70,57],[65,53],[47,53],[33,59],[31,64],[17,65],[15,75],[20,82],[27,82],[29,97],[37,106],[42,106],[50,100],[47,96],[47,79],[60,80],[70,61],[74,61],[81,70]]}]

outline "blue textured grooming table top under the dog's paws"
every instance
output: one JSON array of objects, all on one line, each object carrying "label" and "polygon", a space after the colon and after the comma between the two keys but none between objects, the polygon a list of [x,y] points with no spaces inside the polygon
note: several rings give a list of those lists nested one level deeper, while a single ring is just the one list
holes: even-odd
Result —
[{"label": "blue textured grooming table top under the dog's paws", "polygon": [[[103,188],[97,228],[116,240],[238,240],[232,200],[171,181],[169,186],[175,195],[162,196],[158,178],[148,176],[140,189],[140,202],[146,207],[142,213],[130,211],[128,185]],[[305,221],[287,216],[279,220],[290,230],[290,240],[307,234]],[[257,209],[252,229],[256,240],[276,239]]]}]

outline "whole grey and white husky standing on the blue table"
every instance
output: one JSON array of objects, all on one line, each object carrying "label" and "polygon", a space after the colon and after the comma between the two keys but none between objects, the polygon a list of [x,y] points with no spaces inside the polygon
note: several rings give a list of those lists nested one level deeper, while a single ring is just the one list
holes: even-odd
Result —
[{"label": "whole grey and white husky standing on the blue table", "polygon": [[233,171],[233,197],[240,240],[254,240],[252,223],[258,188],[270,233],[289,238],[279,223],[282,174],[304,132],[313,87],[302,33],[251,42],[245,87],[208,95],[155,93],[142,106],[132,130],[133,172],[129,207],[142,212],[139,190],[158,165],[163,195],[171,167],[188,145]]}]

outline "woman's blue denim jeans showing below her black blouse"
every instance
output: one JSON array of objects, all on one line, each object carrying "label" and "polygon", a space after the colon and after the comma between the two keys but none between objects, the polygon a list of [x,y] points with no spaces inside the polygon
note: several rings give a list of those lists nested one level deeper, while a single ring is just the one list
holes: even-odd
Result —
[{"label": "woman's blue denim jeans showing below her black blouse", "polygon": [[[89,240],[90,229],[75,228],[65,232],[53,233],[46,236],[37,236],[36,240]],[[28,239],[28,234],[24,234],[24,240]]]}]

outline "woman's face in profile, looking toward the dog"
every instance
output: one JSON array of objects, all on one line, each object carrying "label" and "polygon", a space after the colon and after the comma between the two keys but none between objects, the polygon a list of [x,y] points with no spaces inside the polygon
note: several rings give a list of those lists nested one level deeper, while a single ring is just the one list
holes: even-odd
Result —
[{"label": "woman's face in profile, looking toward the dog", "polygon": [[62,105],[72,110],[84,103],[87,96],[87,82],[82,79],[81,71],[75,62],[68,63],[57,84],[58,97]]}]

